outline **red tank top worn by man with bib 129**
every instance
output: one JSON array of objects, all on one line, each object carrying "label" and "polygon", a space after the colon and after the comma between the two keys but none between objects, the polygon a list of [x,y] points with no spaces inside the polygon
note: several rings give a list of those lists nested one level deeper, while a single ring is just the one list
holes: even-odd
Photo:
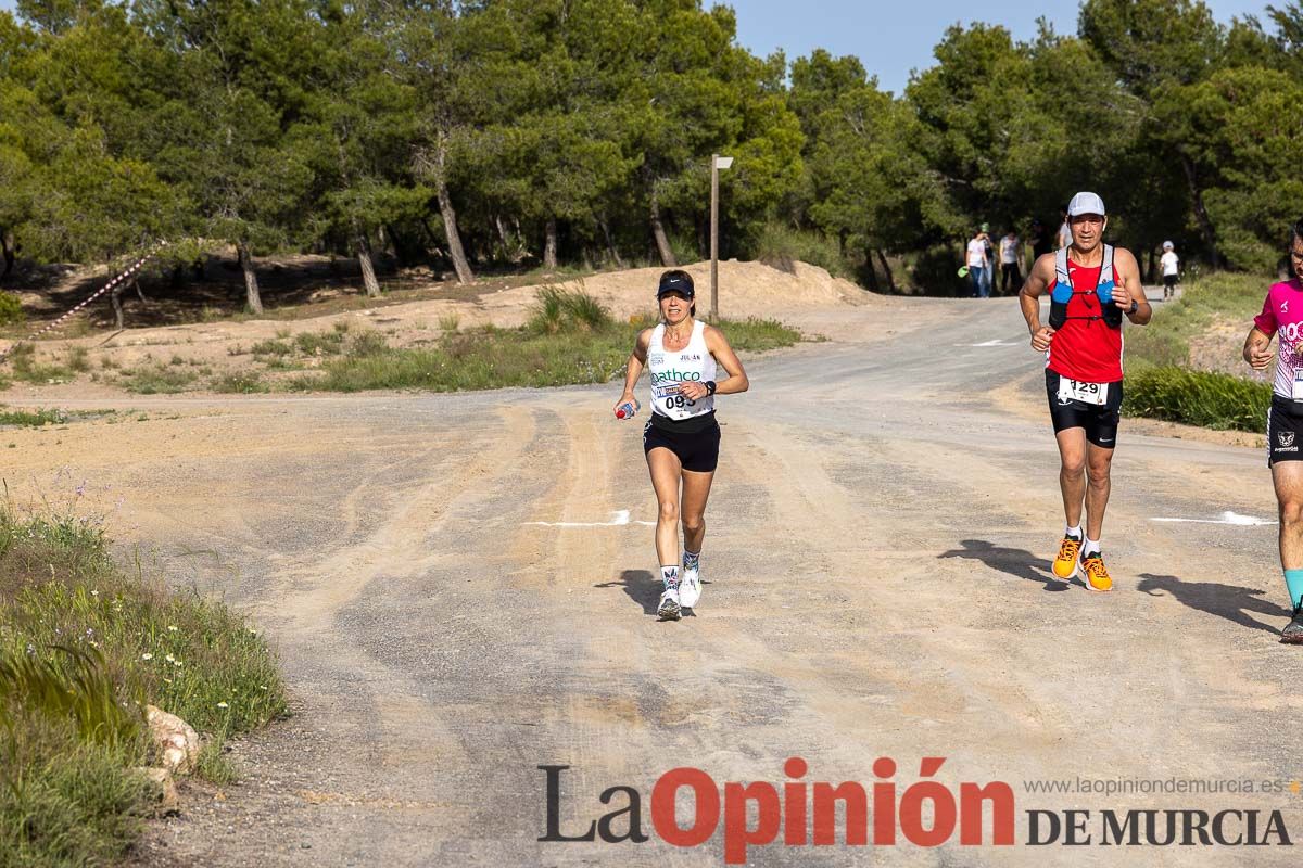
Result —
[{"label": "red tank top worn by man with bib 129", "polygon": [[[1045,367],[1059,376],[1085,383],[1117,383],[1122,379],[1122,329],[1109,328],[1097,318],[1100,299],[1095,286],[1100,268],[1085,268],[1067,259],[1067,276],[1076,290],[1067,303],[1067,321],[1054,332],[1050,349],[1045,353]],[[1117,268],[1117,265],[1114,265]],[[1058,281],[1050,284],[1054,292]]]}]

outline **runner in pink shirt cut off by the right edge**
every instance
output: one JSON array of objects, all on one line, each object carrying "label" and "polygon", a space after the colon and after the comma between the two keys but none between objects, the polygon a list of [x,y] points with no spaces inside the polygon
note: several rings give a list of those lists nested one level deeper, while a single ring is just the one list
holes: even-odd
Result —
[{"label": "runner in pink shirt cut off by the right edge", "polygon": [[1303,220],[1290,226],[1290,271],[1294,276],[1267,290],[1263,312],[1244,338],[1244,360],[1265,371],[1277,338],[1280,362],[1267,414],[1267,466],[1280,505],[1281,570],[1294,617],[1281,642],[1303,644]]}]

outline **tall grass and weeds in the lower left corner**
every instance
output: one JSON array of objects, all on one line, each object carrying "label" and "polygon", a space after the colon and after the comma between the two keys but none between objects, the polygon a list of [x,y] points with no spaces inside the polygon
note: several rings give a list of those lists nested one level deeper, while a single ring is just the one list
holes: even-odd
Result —
[{"label": "tall grass and weeds in the lower left corner", "polygon": [[0,865],[122,856],[155,791],[130,772],[154,759],[146,703],[211,737],[215,781],[228,734],[285,713],[271,652],[224,605],[120,569],[94,521],[0,510]]}]

